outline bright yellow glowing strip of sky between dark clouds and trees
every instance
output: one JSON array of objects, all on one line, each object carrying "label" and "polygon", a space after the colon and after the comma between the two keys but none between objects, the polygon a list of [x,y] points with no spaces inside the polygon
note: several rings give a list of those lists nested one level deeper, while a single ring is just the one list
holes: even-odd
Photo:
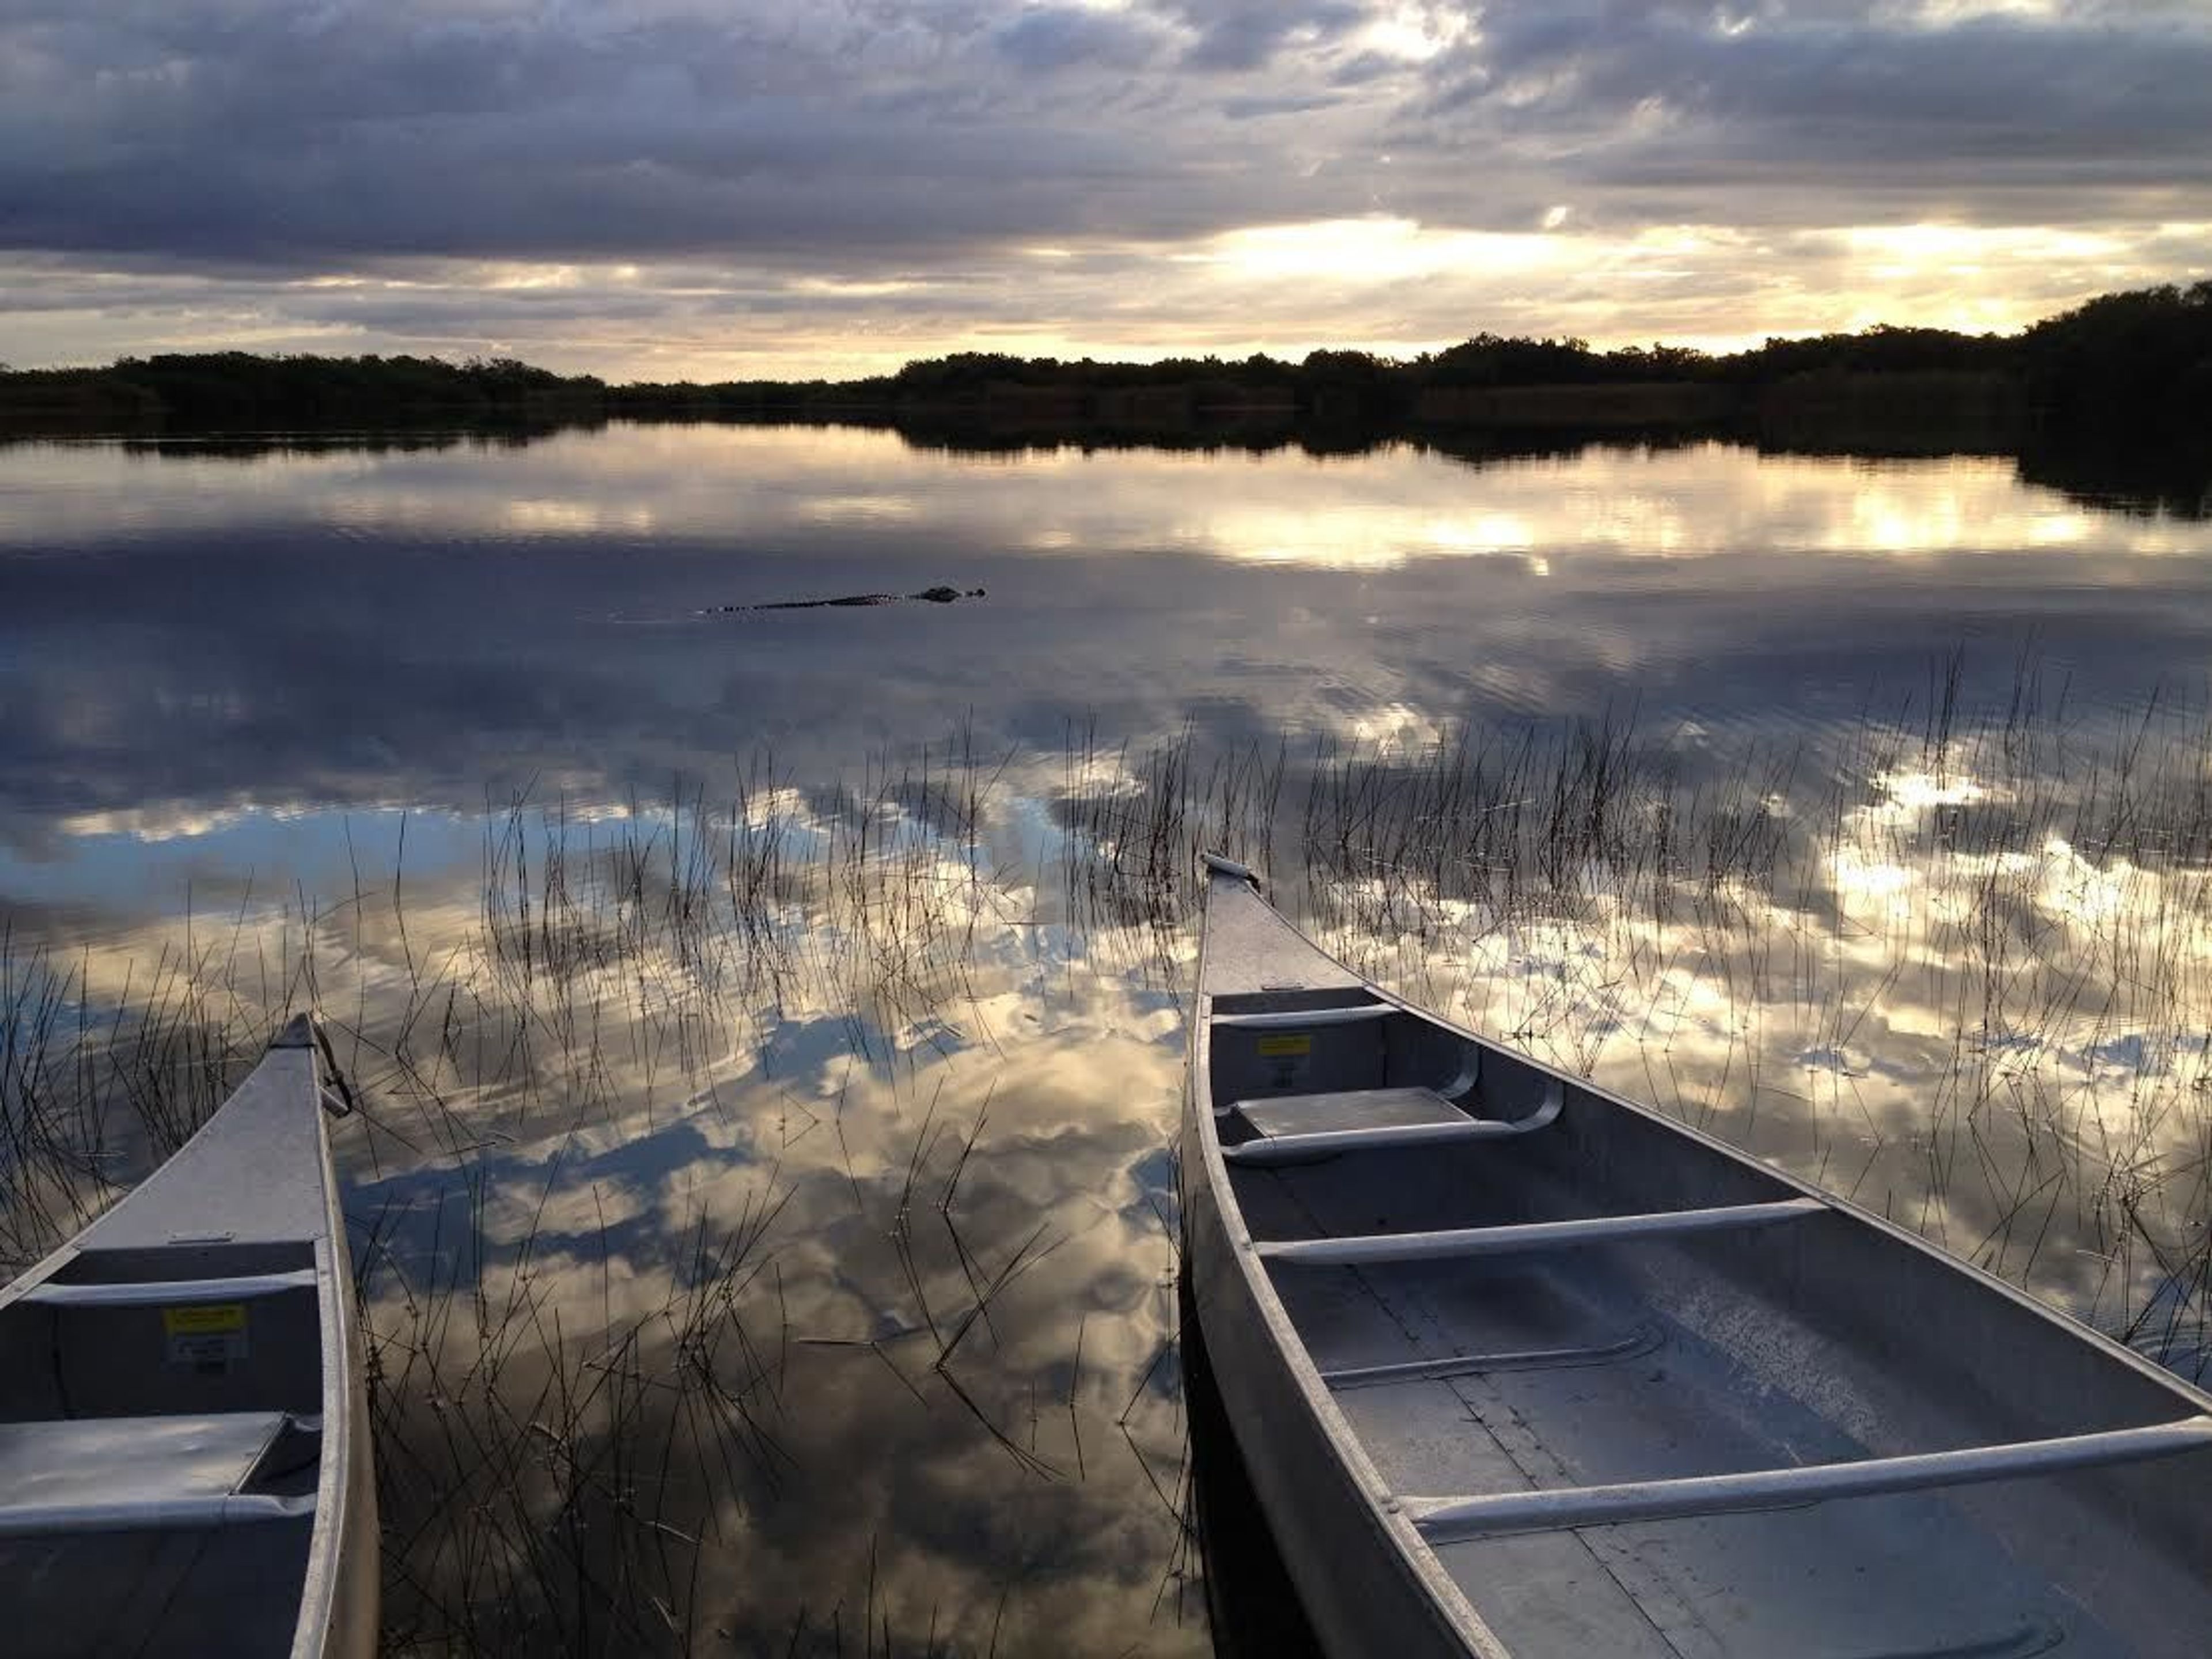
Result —
[{"label": "bright yellow glowing strip of sky between dark clouds and trees", "polygon": [[[2152,281],[2161,252],[2212,268],[2212,226],[2121,230],[1728,226],[1453,230],[1378,215],[1190,243],[1026,246],[958,276],[763,272],[639,261],[349,270],[279,283],[170,279],[128,312],[46,312],[62,361],[164,345],[513,354],[613,378],[856,376],[958,349],[1022,356],[1411,356],[1475,332],[1663,338],[1739,349],[1770,334],[1916,321],[2004,332]],[[62,281],[62,279],[58,279]],[[146,303],[150,301],[150,303]],[[489,305],[489,312],[487,312]],[[292,323],[285,323],[285,316]]]}]

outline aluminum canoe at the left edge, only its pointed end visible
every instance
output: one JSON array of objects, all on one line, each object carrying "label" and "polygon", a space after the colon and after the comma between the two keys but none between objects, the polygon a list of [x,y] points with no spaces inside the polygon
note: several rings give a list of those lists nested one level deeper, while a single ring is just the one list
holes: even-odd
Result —
[{"label": "aluminum canoe at the left edge, only its pointed end visible", "polygon": [[305,1015],[0,1292],[0,1652],[376,1650],[376,1484]]}]

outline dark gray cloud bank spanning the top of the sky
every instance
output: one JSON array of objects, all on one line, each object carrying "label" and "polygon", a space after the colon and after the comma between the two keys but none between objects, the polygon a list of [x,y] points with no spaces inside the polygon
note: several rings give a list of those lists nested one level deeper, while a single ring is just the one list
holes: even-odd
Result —
[{"label": "dark gray cloud bank spanning the top of the sky", "polygon": [[1526,4],[1420,66],[1376,49],[1394,15],[33,4],[0,24],[0,241],[281,263],[1179,237],[1367,210],[1343,168],[1290,166],[1281,133],[1250,131],[1321,111],[1298,133],[1316,150],[1389,146],[1425,217],[1493,228],[1471,166],[1506,199],[1599,192],[1632,217],[1663,190],[1705,221],[1778,170],[1887,192],[2028,179],[2068,217],[2068,190],[2203,188],[2212,168],[2212,31],[2174,22],[1770,9],[1730,33],[1708,7]]}]

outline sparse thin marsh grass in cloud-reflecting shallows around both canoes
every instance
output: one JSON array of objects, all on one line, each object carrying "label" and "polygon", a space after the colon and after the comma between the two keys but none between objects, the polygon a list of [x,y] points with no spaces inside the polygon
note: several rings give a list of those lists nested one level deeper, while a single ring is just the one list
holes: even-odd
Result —
[{"label": "sparse thin marsh grass in cloud-reflecting shallows around both canoes", "polygon": [[[403,836],[389,878],[190,922],[122,980],[7,938],[0,1250],[20,1267],[75,1232],[312,1006],[376,1194],[349,1225],[392,1648],[752,1639],[732,1564],[781,1559],[754,1517],[823,1478],[794,1385],[814,1363],[863,1367],[1015,1482],[1128,1480],[1168,1537],[1155,1617],[1190,1617],[1172,1338],[1108,1369],[1099,1314],[1053,1281],[1066,1219],[995,1186],[995,1082],[947,1099],[936,1062],[1018,1053],[1009,973],[1082,956],[1179,995],[1217,847],[1418,1000],[2201,1374],[2212,732],[2172,703],[2079,712],[2033,659],[1989,708],[1964,684],[1947,659],[1776,750],[1626,710],[1413,745],[1084,728],[1033,757],[956,732],[832,781],[761,752],[619,812],[489,803],[473,898],[407,869]],[[907,1106],[732,1093],[794,1020],[834,1022],[847,1077]],[[739,1124],[748,1157],[639,1259],[593,1159],[692,1119]],[[836,1206],[801,1144],[838,1148]],[[1172,1261],[1166,1212],[1159,1234]],[[894,1327],[794,1323],[832,1237]],[[1018,1571],[922,1606],[878,1544],[856,1531],[849,1593],[779,1641],[973,1652],[1020,1621]]]}]

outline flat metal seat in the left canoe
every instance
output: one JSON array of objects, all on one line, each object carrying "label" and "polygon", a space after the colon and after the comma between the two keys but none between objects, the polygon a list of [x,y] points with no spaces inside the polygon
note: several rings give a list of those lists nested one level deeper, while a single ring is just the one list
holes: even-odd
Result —
[{"label": "flat metal seat in the left canoe", "polygon": [[0,1422],[0,1537],[230,1526],[314,1513],[314,1495],[248,1493],[283,1411]]}]

